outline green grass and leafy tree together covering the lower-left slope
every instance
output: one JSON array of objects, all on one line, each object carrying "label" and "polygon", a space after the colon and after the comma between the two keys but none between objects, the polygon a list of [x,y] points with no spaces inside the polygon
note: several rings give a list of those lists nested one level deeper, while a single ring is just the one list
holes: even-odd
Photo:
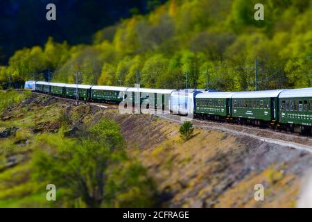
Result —
[{"label": "green grass and leafy tree together covering the lower-left slope", "polygon": [[[0,105],[0,207],[157,205],[154,180],[100,109],[22,91],[0,92]],[[57,201],[46,200],[49,184]]]}]

